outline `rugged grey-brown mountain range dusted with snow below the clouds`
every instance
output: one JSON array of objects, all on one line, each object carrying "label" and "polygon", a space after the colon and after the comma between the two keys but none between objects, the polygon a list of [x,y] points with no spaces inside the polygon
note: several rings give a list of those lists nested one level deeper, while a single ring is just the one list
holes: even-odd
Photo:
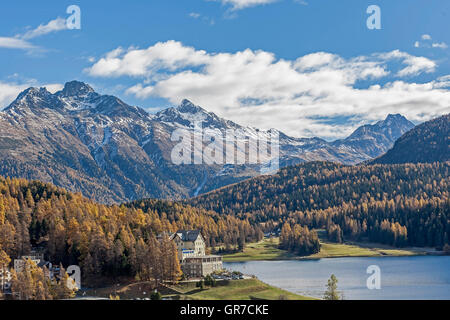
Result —
[{"label": "rugged grey-brown mountain range dusted with snow below the clouds", "polygon": [[[157,114],[72,81],[52,94],[29,88],[0,112],[0,175],[51,182],[112,203],[141,198],[182,199],[256,176],[255,165],[175,165],[176,129],[203,128],[243,136],[269,135],[184,100]],[[358,128],[348,138],[280,137],[280,165],[313,160],[356,164],[378,157],[414,127],[401,115]],[[198,146],[197,146],[198,147]]]}]

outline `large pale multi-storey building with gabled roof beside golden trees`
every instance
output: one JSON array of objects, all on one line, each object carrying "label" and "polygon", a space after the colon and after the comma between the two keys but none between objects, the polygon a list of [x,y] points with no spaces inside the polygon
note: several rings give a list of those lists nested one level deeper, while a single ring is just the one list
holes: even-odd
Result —
[{"label": "large pale multi-storey building with gabled roof beside golden trees", "polygon": [[180,230],[170,235],[178,250],[181,270],[191,278],[205,277],[222,269],[222,257],[206,255],[205,239],[199,230]]}]

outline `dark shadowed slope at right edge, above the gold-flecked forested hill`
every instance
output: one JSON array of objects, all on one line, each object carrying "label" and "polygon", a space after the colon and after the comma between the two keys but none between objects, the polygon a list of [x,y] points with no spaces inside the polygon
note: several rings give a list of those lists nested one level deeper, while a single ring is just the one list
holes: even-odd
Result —
[{"label": "dark shadowed slope at right edge, above the gold-flecked forested hill", "polygon": [[394,147],[372,163],[450,161],[450,114],[424,122],[402,135]]}]

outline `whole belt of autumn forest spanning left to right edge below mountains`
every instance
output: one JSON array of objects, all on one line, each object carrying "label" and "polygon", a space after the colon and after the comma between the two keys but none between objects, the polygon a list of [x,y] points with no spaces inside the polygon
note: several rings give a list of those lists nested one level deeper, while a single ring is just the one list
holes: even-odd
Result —
[{"label": "whole belt of autumn forest spanning left to right edge below mountains", "polygon": [[450,235],[449,166],[305,163],[189,205],[107,206],[50,184],[0,178],[0,250],[16,258],[42,247],[53,263],[80,265],[85,277],[174,279],[176,248],[156,236],[177,229],[200,229],[210,246],[241,248],[263,231],[282,229],[282,246],[301,255],[319,250],[316,228],[337,242],[443,247]]}]

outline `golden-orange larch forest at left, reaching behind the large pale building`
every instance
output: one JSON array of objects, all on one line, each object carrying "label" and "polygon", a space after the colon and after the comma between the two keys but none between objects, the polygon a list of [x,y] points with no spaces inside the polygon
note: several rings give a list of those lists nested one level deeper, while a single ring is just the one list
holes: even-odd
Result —
[{"label": "golden-orange larch forest at left, reaching behind the large pale building", "polygon": [[177,203],[106,206],[50,184],[0,177],[0,252],[11,258],[40,246],[53,264],[78,264],[85,277],[174,279],[176,247],[156,236],[177,229],[200,229],[213,245],[263,236],[248,221]]}]

